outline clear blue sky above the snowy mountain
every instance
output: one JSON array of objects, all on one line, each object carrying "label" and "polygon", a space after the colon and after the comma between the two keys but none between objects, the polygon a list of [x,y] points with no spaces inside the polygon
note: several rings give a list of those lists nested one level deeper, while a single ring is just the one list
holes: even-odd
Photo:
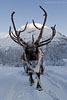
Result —
[{"label": "clear blue sky above the snowy mountain", "polygon": [[47,11],[46,26],[57,25],[58,32],[67,36],[67,0],[0,0],[0,32],[8,33],[11,24],[10,15],[15,11],[15,23],[19,28],[32,19],[37,23],[43,23],[43,12],[39,8],[42,5]]}]

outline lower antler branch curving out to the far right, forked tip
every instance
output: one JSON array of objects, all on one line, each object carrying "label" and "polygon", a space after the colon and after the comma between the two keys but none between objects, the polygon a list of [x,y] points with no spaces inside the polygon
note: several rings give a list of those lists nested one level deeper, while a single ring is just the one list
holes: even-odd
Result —
[{"label": "lower antler branch curving out to the far right, forked tip", "polygon": [[47,45],[47,44],[49,44],[52,41],[52,39],[54,38],[54,36],[56,34],[55,27],[56,27],[56,25],[54,25],[54,27],[51,27],[51,29],[52,29],[52,37],[49,38],[49,39],[47,39],[47,40],[45,40],[45,41],[40,42],[39,45],[38,45],[38,47],[41,47],[43,45]]}]

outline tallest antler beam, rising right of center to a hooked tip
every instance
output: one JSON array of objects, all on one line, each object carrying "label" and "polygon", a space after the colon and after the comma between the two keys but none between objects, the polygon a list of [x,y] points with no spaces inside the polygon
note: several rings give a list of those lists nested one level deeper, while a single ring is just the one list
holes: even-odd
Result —
[{"label": "tallest antler beam, rising right of center to a hooked tip", "polygon": [[42,38],[42,33],[43,33],[44,25],[45,25],[46,20],[47,20],[47,12],[42,8],[42,6],[40,6],[40,8],[44,11],[45,19],[44,19],[44,22],[43,22],[43,25],[42,25],[39,37],[38,37],[38,39],[34,43],[35,45],[37,45],[39,43],[40,39]]}]

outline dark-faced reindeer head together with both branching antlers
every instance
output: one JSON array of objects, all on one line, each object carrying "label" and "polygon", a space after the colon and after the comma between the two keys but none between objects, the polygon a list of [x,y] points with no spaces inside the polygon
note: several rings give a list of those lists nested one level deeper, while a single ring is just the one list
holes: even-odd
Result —
[{"label": "dark-faced reindeer head together with both branching antlers", "polygon": [[9,35],[10,35],[10,37],[11,37],[11,39],[13,41],[15,41],[16,43],[18,43],[19,45],[21,45],[24,48],[26,55],[30,55],[29,59],[31,59],[31,58],[35,59],[36,56],[38,55],[39,47],[47,45],[48,43],[50,43],[51,40],[53,39],[53,37],[55,36],[55,33],[56,33],[56,30],[55,30],[55,26],[56,25],[54,25],[54,27],[51,27],[51,29],[52,29],[52,37],[47,39],[47,40],[44,40],[44,41],[40,42],[40,40],[42,38],[42,34],[43,34],[43,29],[44,29],[44,26],[45,26],[45,23],[46,23],[46,20],[47,20],[47,12],[42,8],[42,6],[40,6],[40,8],[43,10],[45,18],[44,18],[44,22],[43,22],[43,25],[42,25],[41,28],[38,28],[36,26],[34,20],[33,20],[33,25],[35,26],[35,28],[40,30],[40,34],[39,34],[38,38],[36,39],[36,41],[34,41],[34,37],[32,35],[32,42],[31,42],[31,44],[25,42],[20,37],[20,33],[24,32],[26,30],[28,22],[26,23],[26,25],[25,25],[23,30],[19,30],[18,31],[18,30],[16,30],[16,27],[15,27],[15,24],[14,24],[14,20],[13,20],[13,15],[15,14],[15,12],[13,12],[11,14],[11,20],[12,20],[12,24],[13,24],[13,28],[14,28],[15,33],[13,33],[11,31],[11,26],[10,26],[10,28],[9,28]]}]

